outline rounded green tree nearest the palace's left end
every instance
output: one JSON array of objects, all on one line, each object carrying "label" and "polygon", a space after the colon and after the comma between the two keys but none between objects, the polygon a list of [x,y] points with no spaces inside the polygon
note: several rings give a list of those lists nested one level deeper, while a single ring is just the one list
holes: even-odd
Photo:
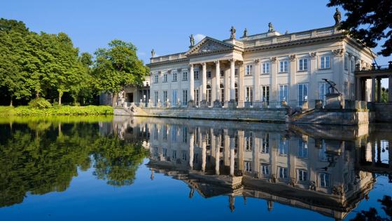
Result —
[{"label": "rounded green tree nearest the palace's left end", "polygon": [[136,52],[137,48],[132,43],[113,40],[109,48],[99,48],[94,53],[94,86],[98,91],[112,94],[113,106],[124,86],[141,85],[149,72]]}]

